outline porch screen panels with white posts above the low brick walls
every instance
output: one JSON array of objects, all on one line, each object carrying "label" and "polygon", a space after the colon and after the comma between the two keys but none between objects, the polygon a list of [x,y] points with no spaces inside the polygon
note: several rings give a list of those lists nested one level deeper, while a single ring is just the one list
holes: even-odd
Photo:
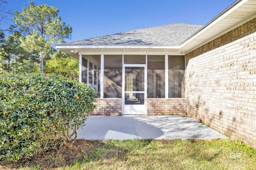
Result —
[{"label": "porch screen panels with white posts above the low brick walls", "polygon": [[[185,98],[184,55],[80,55],[80,82],[86,83],[98,98]],[[145,69],[124,65],[138,64]]]}]

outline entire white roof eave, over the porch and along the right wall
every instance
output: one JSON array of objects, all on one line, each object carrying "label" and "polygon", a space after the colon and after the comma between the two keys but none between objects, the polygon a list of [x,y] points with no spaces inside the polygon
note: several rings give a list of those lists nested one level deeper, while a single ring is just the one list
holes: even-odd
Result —
[{"label": "entire white roof eave, over the porch and along the right wall", "polygon": [[[251,17],[256,15],[256,3],[253,5],[250,9],[250,12],[247,12],[246,14],[242,15],[241,18],[239,14],[243,14],[241,12],[241,9],[244,10],[243,5],[246,6],[246,2],[252,2],[256,0],[238,0],[234,2],[231,6],[226,8],[222,13],[220,13],[218,16],[216,16],[214,19],[212,19],[210,22],[208,22],[206,25],[204,25],[201,29],[196,31],[193,35],[191,35],[188,39],[183,41],[180,45],[56,45],[57,49],[60,49],[61,51],[67,52],[71,49],[86,49],[86,51],[91,52],[101,52],[104,51],[102,49],[105,49],[107,52],[120,52],[120,51],[159,51],[160,49],[164,49],[162,51],[175,51],[175,52],[185,52],[188,53],[199,46],[204,45],[208,41],[210,41],[213,38],[216,38],[220,35],[223,35],[225,31],[228,31],[229,29],[234,29],[233,27],[239,26],[238,24],[243,24],[242,22],[250,19]],[[239,13],[241,12],[241,13]],[[239,13],[239,14],[236,14]],[[231,16],[236,17],[236,21],[230,21],[230,23],[227,25],[226,23],[223,24],[225,21],[232,20]],[[238,16],[238,17],[237,17]],[[231,19],[230,19],[231,18]],[[221,25],[221,27],[218,27],[218,25]],[[216,29],[218,28],[218,29]],[[129,49],[129,50],[127,50]],[[148,49],[148,50],[146,50]],[[70,54],[69,54],[70,55]],[[71,54],[73,57],[74,53]],[[77,55],[76,55],[77,57]]]}]

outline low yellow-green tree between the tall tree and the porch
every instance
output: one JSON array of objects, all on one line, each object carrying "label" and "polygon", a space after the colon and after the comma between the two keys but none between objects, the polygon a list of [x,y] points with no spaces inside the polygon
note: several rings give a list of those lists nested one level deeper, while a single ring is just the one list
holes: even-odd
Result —
[{"label": "low yellow-green tree between the tall tree and the porch", "polygon": [[79,61],[61,51],[55,52],[51,59],[46,61],[44,68],[50,74],[78,80]]}]

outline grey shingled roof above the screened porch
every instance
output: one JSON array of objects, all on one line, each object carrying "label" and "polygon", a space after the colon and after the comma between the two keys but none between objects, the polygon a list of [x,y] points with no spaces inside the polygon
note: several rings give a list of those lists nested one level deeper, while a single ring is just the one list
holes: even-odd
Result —
[{"label": "grey shingled roof above the screened porch", "polygon": [[173,23],[83,39],[62,45],[180,45],[203,25]]}]

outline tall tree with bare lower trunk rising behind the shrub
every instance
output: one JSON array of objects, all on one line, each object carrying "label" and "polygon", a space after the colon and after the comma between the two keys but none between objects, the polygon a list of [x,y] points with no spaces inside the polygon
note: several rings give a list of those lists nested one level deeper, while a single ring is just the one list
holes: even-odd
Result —
[{"label": "tall tree with bare lower trunk rising behind the shrub", "polygon": [[23,8],[22,12],[14,12],[13,21],[19,27],[22,38],[21,45],[29,56],[40,60],[40,72],[44,73],[44,59],[54,51],[53,45],[70,38],[72,27],[61,21],[59,10],[46,4],[35,6],[34,2]]}]

